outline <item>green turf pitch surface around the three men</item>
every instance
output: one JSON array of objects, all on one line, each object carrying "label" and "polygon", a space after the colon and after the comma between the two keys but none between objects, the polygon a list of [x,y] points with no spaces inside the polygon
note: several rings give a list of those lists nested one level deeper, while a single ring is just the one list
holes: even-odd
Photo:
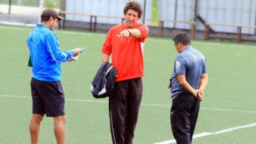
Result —
[{"label": "green turf pitch surface around the three men", "polygon": [[[3,144],[30,141],[31,68],[26,66],[26,38],[30,30],[0,26],[0,135]],[[61,82],[67,99],[67,143],[110,144],[108,99],[96,100],[90,93],[90,83],[101,63],[100,50],[106,34],[63,30],[56,33],[63,51],[74,47],[89,47],[78,61],[62,64]],[[207,58],[209,74],[209,84],[201,104],[195,134],[255,123],[255,45],[200,40],[193,40],[192,44]],[[176,56],[170,38],[147,39],[144,51],[143,105],[134,144],[152,144],[173,139],[168,107],[172,100],[167,86]],[[40,143],[56,143],[52,127],[52,118],[45,118],[40,131]],[[255,127],[251,127],[204,136],[193,140],[193,144],[251,144],[256,141],[255,130]]]}]

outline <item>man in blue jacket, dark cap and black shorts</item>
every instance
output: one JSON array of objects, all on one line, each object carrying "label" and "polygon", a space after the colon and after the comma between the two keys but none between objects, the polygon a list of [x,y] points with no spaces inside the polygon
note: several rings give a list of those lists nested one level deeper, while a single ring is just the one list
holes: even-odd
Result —
[{"label": "man in blue jacket, dark cap and black shorts", "polygon": [[54,118],[54,134],[58,144],[65,143],[65,99],[61,86],[61,62],[73,61],[79,49],[61,52],[57,35],[53,32],[63,19],[56,10],[47,8],[42,12],[41,23],[28,36],[31,54],[31,95],[33,115],[29,124],[31,143],[38,143],[40,123],[44,115]]}]

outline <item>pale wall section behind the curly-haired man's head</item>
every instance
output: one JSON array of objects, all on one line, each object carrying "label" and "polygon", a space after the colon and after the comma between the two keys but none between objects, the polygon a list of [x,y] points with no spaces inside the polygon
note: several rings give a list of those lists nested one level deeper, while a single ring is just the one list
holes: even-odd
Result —
[{"label": "pale wall section behind the curly-haired man's head", "polygon": [[[66,11],[77,13],[91,13],[93,15],[108,15],[114,17],[124,17],[124,6],[128,0],[67,0]],[[140,0],[144,6],[144,0]],[[151,19],[152,17],[152,0],[147,0],[145,18]],[[141,17],[142,18],[142,17]],[[89,22],[90,17],[67,15],[67,20],[79,20]],[[97,22],[108,24],[119,24],[121,19],[109,19],[97,17]],[[146,21],[146,24],[150,24]]]}]

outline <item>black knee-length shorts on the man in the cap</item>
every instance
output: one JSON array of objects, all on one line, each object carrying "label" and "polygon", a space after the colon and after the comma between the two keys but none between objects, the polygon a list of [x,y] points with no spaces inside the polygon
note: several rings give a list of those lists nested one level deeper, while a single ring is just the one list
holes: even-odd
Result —
[{"label": "black knee-length shorts on the man in the cap", "polygon": [[61,82],[48,82],[31,79],[33,114],[49,117],[65,115],[65,99]]}]

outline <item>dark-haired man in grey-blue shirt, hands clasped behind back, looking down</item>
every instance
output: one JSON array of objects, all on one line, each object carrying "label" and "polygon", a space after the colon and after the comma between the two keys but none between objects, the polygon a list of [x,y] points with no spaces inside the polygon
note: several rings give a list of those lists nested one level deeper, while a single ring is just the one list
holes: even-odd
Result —
[{"label": "dark-haired man in grey-blue shirt, hands clasped behind back, looking down", "polygon": [[177,144],[191,144],[208,76],[203,54],[191,47],[189,35],[173,38],[177,56],[170,81],[171,126]]}]

